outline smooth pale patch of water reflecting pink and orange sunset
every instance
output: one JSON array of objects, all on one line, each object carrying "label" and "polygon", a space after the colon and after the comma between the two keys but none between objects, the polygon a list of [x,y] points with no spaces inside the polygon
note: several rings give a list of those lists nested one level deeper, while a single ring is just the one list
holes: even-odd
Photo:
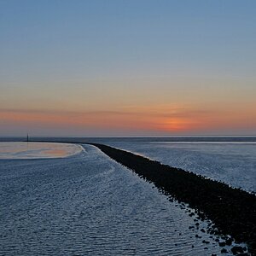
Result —
[{"label": "smooth pale patch of water reflecting pink and orange sunset", "polygon": [[79,145],[67,143],[0,143],[0,159],[62,158],[81,150]]}]

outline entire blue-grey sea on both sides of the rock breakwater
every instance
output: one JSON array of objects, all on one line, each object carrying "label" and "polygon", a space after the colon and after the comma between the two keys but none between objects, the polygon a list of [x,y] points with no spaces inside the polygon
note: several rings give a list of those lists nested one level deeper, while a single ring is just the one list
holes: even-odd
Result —
[{"label": "entire blue-grey sea on both sides of the rock breakwater", "polygon": [[194,209],[86,143],[255,193],[256,137],[30,139],[55,143],[0,138],[0,255],[232,255],[222,237],[201,231],[211,220],[195,226]]}]

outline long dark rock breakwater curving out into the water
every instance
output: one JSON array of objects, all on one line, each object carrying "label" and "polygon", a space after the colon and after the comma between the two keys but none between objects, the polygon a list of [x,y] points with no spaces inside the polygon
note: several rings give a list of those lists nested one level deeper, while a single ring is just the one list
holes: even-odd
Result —
[{"label": "long dark rock breakwater curving out into the water", "polygon": [[[196,214],[202,220],[211,219],[213,225],[209,226],[207,232],[222,236],[229,234],[237,242],[246,242],[248,252],[256,255],[255,195],[124,150],[102,144],[90,144],[136,172],[139,177],[154,183],[166,195],[172,195],[172,198],[178,202],[187,203],[189,207],[195,209]],[[219,242],[220,247],[231,244],[231,238]],[[231,252],[235,255],[248,255],[242,247],[237,246],[232,247]],[[225,248],[222,249],[222,253],[227,253]]]}]

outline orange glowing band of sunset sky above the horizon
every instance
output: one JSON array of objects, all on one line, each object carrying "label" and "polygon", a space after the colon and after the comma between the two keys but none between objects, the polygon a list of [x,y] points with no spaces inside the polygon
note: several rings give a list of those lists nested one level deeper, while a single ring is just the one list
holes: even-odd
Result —
[{"label": "orange glowing band of sunset sky above the horizon", "polygon": [[202,131],[237,129],[253,130],[256,127],[256,114],[253,108],[236,111],[205,110],[182,108],[180,106],[131,107],[119,111],[57,112],[32,110],[0,110],[1,124],[28,127],[54,127],[62,129],[78,128],[97,131],[151,131],[163,134],[179,134]]}]

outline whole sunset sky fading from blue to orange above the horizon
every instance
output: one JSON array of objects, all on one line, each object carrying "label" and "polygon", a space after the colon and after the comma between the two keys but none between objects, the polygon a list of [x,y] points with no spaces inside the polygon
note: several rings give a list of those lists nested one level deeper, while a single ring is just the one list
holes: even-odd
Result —
[{"label": "whole sunset sky fading from blue to orange above the horizon", "polygon": [[0,0],[0,136],[256,135],[256,1]]}]

